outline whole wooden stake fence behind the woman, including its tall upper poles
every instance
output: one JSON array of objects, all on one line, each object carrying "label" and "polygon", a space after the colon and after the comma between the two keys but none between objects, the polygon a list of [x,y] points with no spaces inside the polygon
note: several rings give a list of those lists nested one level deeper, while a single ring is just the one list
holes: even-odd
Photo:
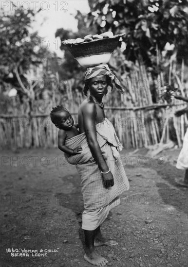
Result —
[{"label": "whole wooden stake fence behind the woman, including its tall upper poles", "polygon": [[[140,62],[130,67],[129,73],[124,69],[124,65],[122,71],[118,72],[117,58],[118,54],[111,58],[111,66],[114,67],[115,75],[126,92],[121,95],[113,89],[112,93],[109,92],[104,97],[104,106],[106,117],[113,123],[123,146],[141,148],[160,142],[167,143],[172,139],[180,147],[188,120],[185,115],[175,117],[174,112],[184,108],[185,103],[181,100],[175,100],[172,106],[164,103],[160,100],[157,90],[164,85],[162,79],[158,79],[156,84],[150,73],[147,73],[144,64]],[[180,80],[177,75],[174,77],[183,94],[183,88],[186,87],[183,84],[184,79]],[[64,83],[66,88],[63,94],[48,100],[33,101],[32,105],[28,100],[21,103],[18,97],[1,100],[1,148],[56,147],[58,129],[52,124],[49,113],[53,106],[63,104],[77,122],[78,106],[85,97],[78,89],[72,90],[74,82],[72,79]],[[152,100],[153,86],[157,93],[155,96],[157,104]]]}]

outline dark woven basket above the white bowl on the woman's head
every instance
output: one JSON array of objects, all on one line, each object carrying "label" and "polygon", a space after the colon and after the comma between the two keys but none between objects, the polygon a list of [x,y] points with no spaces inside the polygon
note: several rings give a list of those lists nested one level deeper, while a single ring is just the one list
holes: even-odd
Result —
[{"label": "dark woven basket above the white bowl on the woman's head", "polygon": [[112,38],[103,38],[93,40],[91,42],[82,42],[79,44],[66,44],[64,41],[63,44],[66,45],[68,50],[72,53],[74,57],[89,56],[99,53],[112,53],[113,50],[117,47],[119,38],[124,34],[118,34]]}]

